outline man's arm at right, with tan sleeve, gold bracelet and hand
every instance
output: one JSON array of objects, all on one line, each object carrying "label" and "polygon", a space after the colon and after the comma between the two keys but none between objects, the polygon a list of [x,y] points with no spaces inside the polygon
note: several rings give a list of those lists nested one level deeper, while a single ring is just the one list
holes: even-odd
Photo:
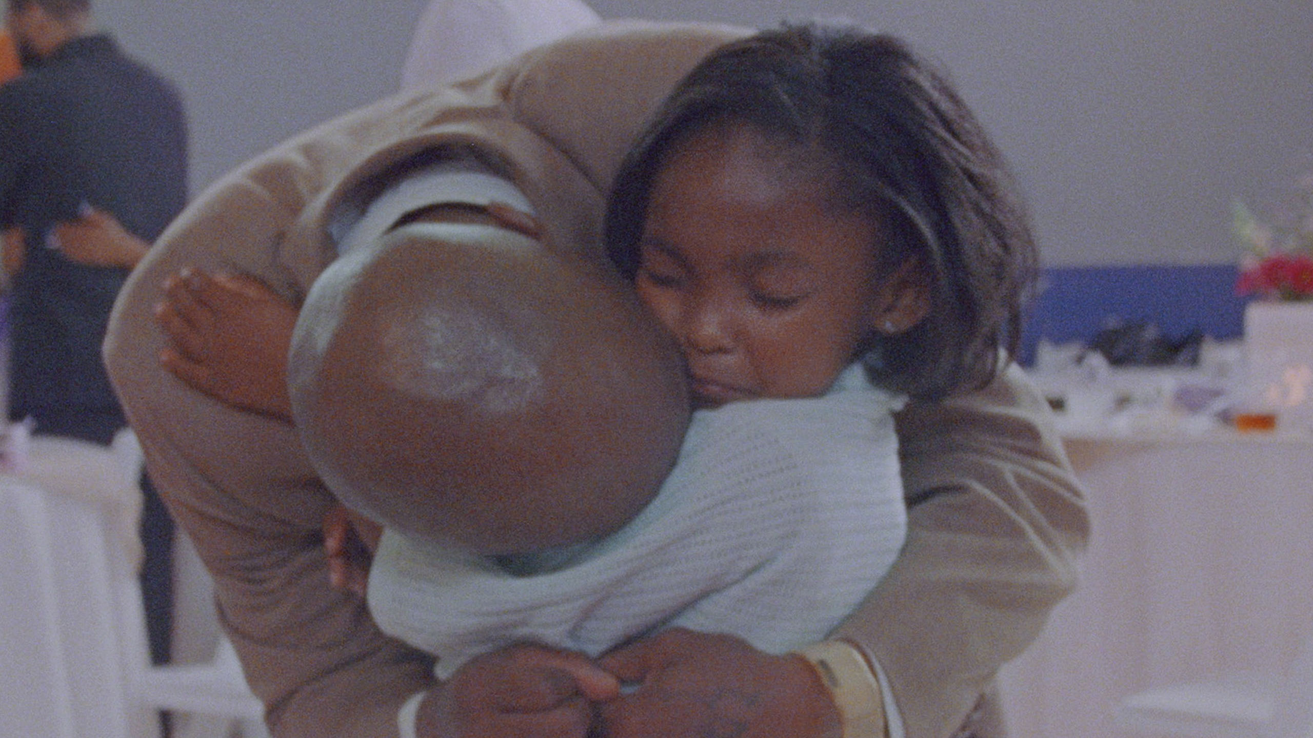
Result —
[{"label": "man's arm at right, with tan sleeve, gold bracelet and hand", "polygon": [[[880,685],[861,661],[878,663],[898,709],[890,725],[902,725],[909,738],[948,738],[969,714],[974,735],[999,735],[981,720],[989,709],[973,708],[1070,591],[1088,534],[1085,503],[1043,398],[1016,368],[986,390],[909,407],[898,422],[911,503],[907,542],[867,601],[831,633],[867,659],[843,643],[804,649],[827,662],[811,670],[809,685],[807,670],[762,662],[752,649],[717,650],[716,636],[666,632],[608,659],[649,676],[645,700],[608,708],[611,735],[691,737],[701,734],[691,722],[710,729],[730,721],[751,735],[797,738],[802,733],[776,710],[838,708],[847,735],[874,738],[885,722]],[[827,689],[815,688],[815,675]],[[726,684],[737,703],[725,699]]]}]

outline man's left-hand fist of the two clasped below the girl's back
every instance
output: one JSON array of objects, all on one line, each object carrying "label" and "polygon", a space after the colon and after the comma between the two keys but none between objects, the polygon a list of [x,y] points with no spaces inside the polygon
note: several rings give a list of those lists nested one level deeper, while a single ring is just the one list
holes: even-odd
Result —
[{"label": "man's left-hand fist of the two clasped below the girl's back", "polygon": [[582,654],[516,645],[483,654],[420,706],[425,738],[587,738],[595,704],[620,695],[614,676]]}]

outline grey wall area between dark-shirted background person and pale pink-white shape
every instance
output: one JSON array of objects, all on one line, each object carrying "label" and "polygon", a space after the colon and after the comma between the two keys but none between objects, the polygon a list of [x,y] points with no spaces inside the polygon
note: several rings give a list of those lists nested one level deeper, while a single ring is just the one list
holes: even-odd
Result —
[{"label": "grey wall area between dark-shirted background person and pale pink-white shape", "polygon": [[397,89],[424,0],[92,0],[181,88],[192,194],[285,138]]}]

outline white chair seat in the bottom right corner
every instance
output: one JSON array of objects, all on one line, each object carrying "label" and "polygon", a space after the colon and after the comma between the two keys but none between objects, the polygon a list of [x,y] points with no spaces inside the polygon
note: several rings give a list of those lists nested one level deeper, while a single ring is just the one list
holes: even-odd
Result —
[{"label": "white chair seat in the bottom right corner", "polygon": [[1313,738],[1313,633],[1278,680],[1233,675],[1130,695],[1121,727],[1148,735]]}]

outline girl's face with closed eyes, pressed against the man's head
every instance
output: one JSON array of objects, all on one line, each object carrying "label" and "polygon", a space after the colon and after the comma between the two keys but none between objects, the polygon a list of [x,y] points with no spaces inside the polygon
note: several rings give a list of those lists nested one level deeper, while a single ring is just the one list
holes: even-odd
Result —
[{"label": "girl's face with closed eyes, pressed against the man's head", "polygon": [[699,406],[821,394],[885,318],[876,223],[835,214],[800,162],[751,127],[713,126],[653,180],[635,286]]}]

